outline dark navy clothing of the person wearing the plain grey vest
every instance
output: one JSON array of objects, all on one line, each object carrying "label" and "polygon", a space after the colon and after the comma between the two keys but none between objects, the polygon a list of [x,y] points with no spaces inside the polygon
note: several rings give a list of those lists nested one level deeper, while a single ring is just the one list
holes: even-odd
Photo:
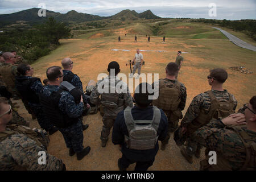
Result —
[{"label": "dark navy clothing of the person wearing the plain grey vest", "polygon": [[[157,135],[158,140],[163,141],[167,136],[168,131],[168,118],[164,111],[160,109],[161,119],[158,127]],[[153,118],[153,108],[148,106],[144,109],[134,106],[131,109],[131,114],[133,115],[134,120],[151,120]],[[135,170],[147,170],[148,167],[152,166],[155,160],[155,156],[159,150],[158,142],[156,142],[155,148],[150,150],[134,150],[126,147],[125,135],[129,136],[127,126],[125,124],[125,117],[123,111],[119,112],[117,118],[114,122],[113,133],[112,133],[112,142],[114,144],[122,145],[122,158],[121,166],[127,168],[132,163],[137,163]]]}]

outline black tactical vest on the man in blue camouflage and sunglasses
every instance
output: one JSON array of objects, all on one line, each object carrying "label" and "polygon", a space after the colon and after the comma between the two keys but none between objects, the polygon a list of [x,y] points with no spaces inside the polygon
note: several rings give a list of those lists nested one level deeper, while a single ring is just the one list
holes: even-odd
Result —
[{"label": "black tactical vest on the man in blue camouflage and sunglasses", "polygon": [[[61,86],[62,85],[62,86]],[[46,113],[47,118],[52,123],[52,125],[67,128],[68,126],[73,125],[74,123],[79,121],[79,118],[70,118],[67,113],[62,113],[59,109],[59,102],[61,97],[61,92],[69,92],[75,99],[76,104],[79,104],[81,99],[81,94],[79,96],[80,89],[76,89],[75,86],[69,84],[69,82],[64,81],[61,82],[60,89],[57,92],[52,92],[51,96],[46,96],[44,94],[40,94],[40,104],[43,106],[43,111]],[[66,85],[68,88],[65,88]],[[75,90],[74,90],[75,89]],[[71,92],[71,91],[74,92]],[[78,91],[79,90],[79,91]],[[78,101],[79,98],[79,101]]]}]

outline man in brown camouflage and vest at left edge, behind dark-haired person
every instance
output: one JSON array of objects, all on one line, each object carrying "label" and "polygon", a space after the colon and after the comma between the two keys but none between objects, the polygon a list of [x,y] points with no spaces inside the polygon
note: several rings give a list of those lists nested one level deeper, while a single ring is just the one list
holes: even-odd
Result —
[{"label": "man in brown camouflage and vest at left edge, behind dark-haired person", "polygon": [[2,80],[6,84],[7,90],[12,94],[12,97],[17,94],[15,89],[15,76],[18,65],[16,64],[16,56],[11,52],[3,53],[5,63],[0,67]]}]

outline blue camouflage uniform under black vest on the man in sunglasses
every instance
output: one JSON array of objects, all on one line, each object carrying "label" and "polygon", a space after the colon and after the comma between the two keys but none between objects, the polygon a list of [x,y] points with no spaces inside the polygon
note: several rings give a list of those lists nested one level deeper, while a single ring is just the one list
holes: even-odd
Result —
[{"label": "blue camouflage uniform under black vest on the man in sunglasses", "polygon": [[[60,87],[57,85],[47,85],[43,88],[43,94],[45,96],[51,96],[53,91],[57,92]],[[78,118],[79,121],[73,123],[73,125],[67,128],[59,129],[61,134],[63,134],[65,143],[68,148],[73,148],[76,153],[79,153],[84,148],[82,142],[84,140],[84,135],[82,134],[82,109],[84,103],[80,102],[76,104],[73,96],[69,92],[61,92],[61,97],[59,101],[59,109],[62,113],[67,113],[69,118]]]}]

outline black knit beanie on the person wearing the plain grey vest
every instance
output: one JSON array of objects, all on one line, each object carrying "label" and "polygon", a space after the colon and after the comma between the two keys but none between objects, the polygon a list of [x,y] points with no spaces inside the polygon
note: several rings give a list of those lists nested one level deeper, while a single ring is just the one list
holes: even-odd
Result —
[{"label": "black knit beanie on the person wearing the plain grey vest", "polygon": [[[142,82],[135,89],[134,100],[135,100],[135,103],[140,107],[147,107],[152,102],[152,100],[148,99],[148,96],[154,93],[148,93],[148,86],[150,86],[150,84],[146,82]],[[146,90],[144,88],[146,88]],[[146,93],[144,93],[145,91]]]}]

